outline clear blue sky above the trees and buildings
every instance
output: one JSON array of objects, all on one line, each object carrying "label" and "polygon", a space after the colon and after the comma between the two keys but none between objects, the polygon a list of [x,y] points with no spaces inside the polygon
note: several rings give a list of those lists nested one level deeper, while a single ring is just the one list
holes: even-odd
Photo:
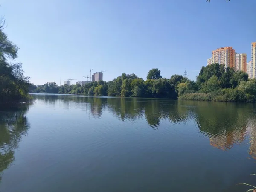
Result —
[{"label": "clear blue sky above the trees and buildings", "polygon": [[[195,79],[211,51],[247,53],[256,41],[256,0],[0,0],[4,31],[34,84],[86,80],[105,71]],[[62,80],[62,84],[63,84]],[[73,81],[75,82],[75,81]]]}]

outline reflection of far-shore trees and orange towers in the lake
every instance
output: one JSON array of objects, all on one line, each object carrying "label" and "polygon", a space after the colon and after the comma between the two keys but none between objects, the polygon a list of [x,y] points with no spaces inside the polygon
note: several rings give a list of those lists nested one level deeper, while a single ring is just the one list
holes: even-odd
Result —
[{"label": "reflection of far-shore trees and orange towers in the lake", "polygon": [[145,118],[154,129],[159,128],[162,120],[173,124],[192,120],[200,133],[209,137],[210,145],[224,151],[241,144],[248,134],[248,153],[256,159],[255,104],[49,95],[37,98],[52,106],[62,102],[66,110],[72,110],[72,107],[89,110],[94,118],[101,118],[104,111],[122,121]]}]

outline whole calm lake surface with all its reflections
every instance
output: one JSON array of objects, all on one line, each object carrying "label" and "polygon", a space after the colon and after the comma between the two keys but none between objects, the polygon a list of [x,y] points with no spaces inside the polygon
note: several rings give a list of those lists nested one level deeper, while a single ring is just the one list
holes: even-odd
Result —
[{"label": "whole calm lake surface with all its reflections", "polygon": [[37,95],[0,110],[0,192],[240,192],[256,105]]}]

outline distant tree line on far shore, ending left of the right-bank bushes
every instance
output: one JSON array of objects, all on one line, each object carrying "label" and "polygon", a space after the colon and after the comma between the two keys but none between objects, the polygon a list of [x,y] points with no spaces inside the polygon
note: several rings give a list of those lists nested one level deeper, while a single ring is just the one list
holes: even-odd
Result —
[{"label": "distant tree line on far shore, ending left of the right-bank bushes", "polygon": [[[112,81],[90,82],[81,86],[62,85],[58,87],[54,83],[44,85],[31,85],[31,93],[64,93],[64,94],[83,94],[88,96],[121,96],[121,97],[151,97],[151,98],[173,98],[178,96],[177,85],[185,83],[189,79],[181,75],[173,75],[170,79],[162,78],[160,70],[151,69],[147,79],[144,81],[135,73],[122,73],[121,76]],[[48,90],[48,91],[47,91]]]}]

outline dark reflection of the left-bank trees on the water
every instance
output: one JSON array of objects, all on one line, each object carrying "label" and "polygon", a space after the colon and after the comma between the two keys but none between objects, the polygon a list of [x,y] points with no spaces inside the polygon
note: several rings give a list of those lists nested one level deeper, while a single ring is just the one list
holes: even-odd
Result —
[{"label": "dark reflection of the left-bank trees on the water", "polygon": [[0,108],[0,182],[2,172],[15,160],[15,149],[29,129],[28,109],[27,104]]}]

